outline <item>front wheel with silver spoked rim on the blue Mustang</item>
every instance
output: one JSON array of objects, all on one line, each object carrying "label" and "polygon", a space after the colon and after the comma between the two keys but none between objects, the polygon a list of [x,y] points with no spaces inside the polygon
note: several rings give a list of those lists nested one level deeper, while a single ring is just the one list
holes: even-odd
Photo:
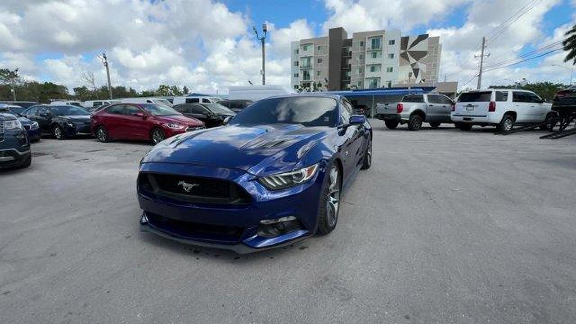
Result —
[{"label": "front wheel with silver spoked rim on the blue Mustang", "polygon": [[[333,172],[336,172],[336,182],[332,182]],[[334,231],[336,223],[338,223],[338,215],[340,213],[340,201],[342,197],[340,190],[342,190],[342,171],[338,164],[334,164],[327,169],[327,174],[324,176],[324,190],[320,198],[320,208],[318,210],[318,228],[316,233],[319,235],[327,235]],[[331,197],[331,201],[328,200]],[[336,210],[334,211],[335,208]],[[329,214],[332,212],[332,214]],[[333,216],[333,217],[332,217]]]}]

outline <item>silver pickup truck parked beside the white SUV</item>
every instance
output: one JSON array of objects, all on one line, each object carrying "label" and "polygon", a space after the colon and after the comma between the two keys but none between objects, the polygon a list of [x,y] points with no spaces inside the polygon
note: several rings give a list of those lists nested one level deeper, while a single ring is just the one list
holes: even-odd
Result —
[{"label": "silver pickup truck parked beside the white SUV", "polygon": [[430,123],[436,128],[442,123],[452,123],[450,111],[453,106],[454,101],[444,95],[407,95],[396,104],[377,104],[376,118],[384,120],[389,129],[396,128],[398,124],[408,124],[408,129],[415,131],[422,127],[422,123]]}]

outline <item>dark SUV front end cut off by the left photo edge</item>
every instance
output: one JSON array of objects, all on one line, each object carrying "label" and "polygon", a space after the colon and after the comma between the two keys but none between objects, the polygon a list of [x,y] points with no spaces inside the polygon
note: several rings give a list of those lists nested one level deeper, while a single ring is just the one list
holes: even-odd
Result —
[{"label": "dark SUV front end cut off by the left photo edge", "polygon": [[28,168],[31,161],[26,129],[14,115],[0,114],[0,169]]}]

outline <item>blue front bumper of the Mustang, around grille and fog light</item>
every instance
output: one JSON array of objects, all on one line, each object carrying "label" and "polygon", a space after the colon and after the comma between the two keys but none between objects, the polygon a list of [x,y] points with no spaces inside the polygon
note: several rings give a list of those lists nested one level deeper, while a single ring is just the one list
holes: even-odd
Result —
[{"label": "blue front bumper of the Mustang, around grille and fog light", "polygon": [[[140,228],[181,243],[236,253],[250,253],[294,243],[308,238],[316,230],[324,176],[320,169],[315,178],[306,184],[272,192],[258,183],[253,175],[243,171],[198,165],[145,163],[141,172],[230,180],[247,191],[252,199],[249,204],[241,206],[191,203],[138,188],[138,202],[144,211]],[[259,235],[260,221],[290,216],[295,217],[301,226],[274,237]]]}]

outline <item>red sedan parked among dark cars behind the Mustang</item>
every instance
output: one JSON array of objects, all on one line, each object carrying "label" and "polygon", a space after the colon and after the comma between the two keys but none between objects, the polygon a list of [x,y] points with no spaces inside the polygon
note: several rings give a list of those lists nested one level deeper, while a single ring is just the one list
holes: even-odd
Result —
[{"label": "red sedan parked among dark cars behind the Mustang", "polygon": [[145,140],[158,144],[173,135],[204,128],[196,118],[186,117],[167,106],[119,103],[90,116],[92,134],[100,142]]}]

